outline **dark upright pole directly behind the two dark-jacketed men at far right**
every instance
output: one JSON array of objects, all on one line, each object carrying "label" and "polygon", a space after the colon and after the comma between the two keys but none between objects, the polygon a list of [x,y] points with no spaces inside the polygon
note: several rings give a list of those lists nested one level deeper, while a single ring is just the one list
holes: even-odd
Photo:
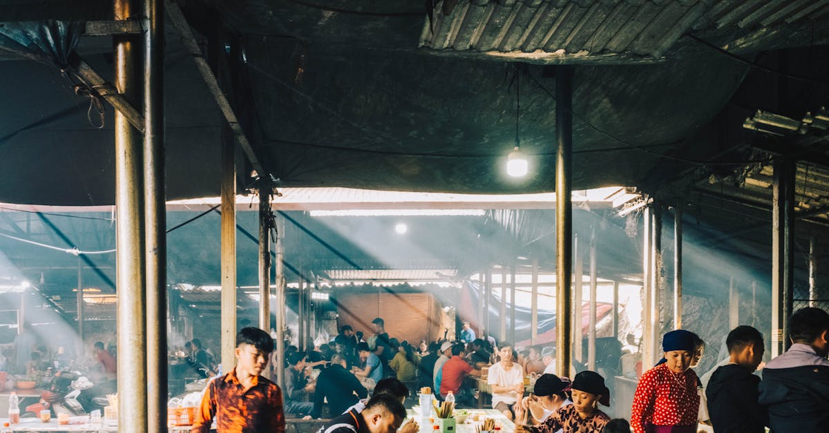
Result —
[{"label": "dark upright pole directly behind the two dark-jacketed men at far right", "polygon": [[794,284],[795,162],[774,161],[772,205],[772,357],[788,348],[788,317]]}]

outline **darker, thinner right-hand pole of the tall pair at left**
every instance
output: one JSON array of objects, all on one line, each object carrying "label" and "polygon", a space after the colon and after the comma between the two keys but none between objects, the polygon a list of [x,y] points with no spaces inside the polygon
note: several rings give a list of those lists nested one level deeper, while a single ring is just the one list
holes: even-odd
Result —
[{"label": "darker, thinner right-hand pole of the tall pair at left", "polygon": [[167,206],[164,187],[164,6],[144,0],[144,237],[147,245],[148,433],[167,432]]}]

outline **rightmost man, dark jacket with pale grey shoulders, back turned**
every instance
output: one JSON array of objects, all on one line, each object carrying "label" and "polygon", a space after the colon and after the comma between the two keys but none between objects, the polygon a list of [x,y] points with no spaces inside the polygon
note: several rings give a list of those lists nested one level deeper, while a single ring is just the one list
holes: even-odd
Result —
[{"label": "rightmost man, dark jacket with pale grey shoulders, back turned", "polygon": [[792,347],[763,370],[761,405],[774,433],[829,429],[829,314],[799,309],[789,319]]}]

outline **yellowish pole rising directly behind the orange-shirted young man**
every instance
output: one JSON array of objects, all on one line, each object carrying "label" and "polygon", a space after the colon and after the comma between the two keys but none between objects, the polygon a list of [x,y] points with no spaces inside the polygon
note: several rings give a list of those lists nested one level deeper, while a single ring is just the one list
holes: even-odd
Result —
[{"label": "yellowish pole rising directly behind the orange-shirted young man", "polygon": [[221,371],[236,364],[236,152],[225,129],[221,145]]}]

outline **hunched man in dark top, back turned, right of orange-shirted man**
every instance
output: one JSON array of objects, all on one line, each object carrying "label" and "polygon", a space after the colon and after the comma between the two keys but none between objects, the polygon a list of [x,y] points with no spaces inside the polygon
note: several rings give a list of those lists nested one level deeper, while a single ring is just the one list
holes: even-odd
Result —
[{"label": "hunched man in dark top, back turned, right of orange-shirted man", "polygon": [[[355,395],[356,393],[356,395]],[[327,367],[317,379],[317,390],[313,396],[313,411],[308,418],[322,415],[322,403],[328,400],[331,416],[343,414],[358,399],[366,398],[368,391],[356,376],[346,370],[346,359],[335,354],[331,357],[331,366]]]}]

